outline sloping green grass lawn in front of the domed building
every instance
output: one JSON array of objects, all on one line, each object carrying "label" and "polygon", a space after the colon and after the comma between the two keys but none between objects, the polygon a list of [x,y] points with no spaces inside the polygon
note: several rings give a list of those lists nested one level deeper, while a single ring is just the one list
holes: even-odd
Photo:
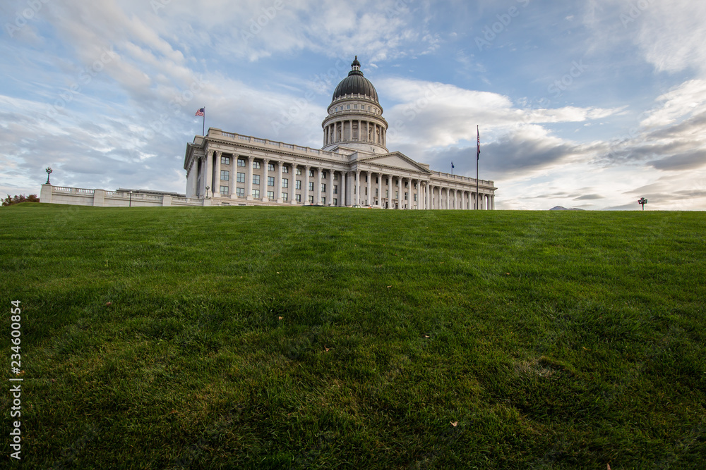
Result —
[{"label": "sloping green grass lawn in front of the domed building", "polygon": [[703,213],[25,203],[0,266],[25,468],[706,466]]}]

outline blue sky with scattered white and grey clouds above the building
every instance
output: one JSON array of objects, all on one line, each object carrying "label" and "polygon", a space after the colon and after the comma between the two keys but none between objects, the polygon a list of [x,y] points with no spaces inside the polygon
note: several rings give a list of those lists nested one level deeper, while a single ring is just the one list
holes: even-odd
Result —
[{"label": "blue sky with scattered white and grey clouds above the building", "polygon": [[706,209],[706,2],[4,0],[0,194],[184,192],[206,127],[312,148],[354,56],[388,149],[496,209]]}]

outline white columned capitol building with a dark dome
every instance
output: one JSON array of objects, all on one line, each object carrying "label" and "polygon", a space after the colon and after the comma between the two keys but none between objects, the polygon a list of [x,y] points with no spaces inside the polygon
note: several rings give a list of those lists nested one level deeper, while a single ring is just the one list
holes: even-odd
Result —
[{"label": "white columned capitol building with a dark dome", "polygon": [[[210,205],[372,206],[383,209],[495,208],[492,181],[432,171],[388,151],[388,123],[358,58],[323,120],[323,147],[209,128],[186,145],[186,198]],[[476,190],[478,187],[478,190]]]}]

